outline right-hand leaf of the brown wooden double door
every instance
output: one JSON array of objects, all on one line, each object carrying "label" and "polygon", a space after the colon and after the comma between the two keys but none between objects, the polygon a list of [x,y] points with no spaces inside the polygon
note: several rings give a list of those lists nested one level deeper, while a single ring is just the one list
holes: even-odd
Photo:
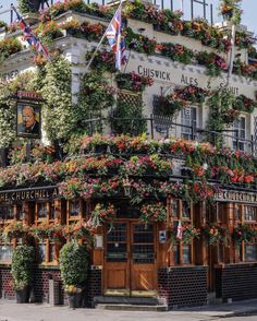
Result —
[{"label": "right-hand leaf of the brown wooden double door", "polygon": [[131,225],[131,295],[157,295],[156,228],[154,224]]}]

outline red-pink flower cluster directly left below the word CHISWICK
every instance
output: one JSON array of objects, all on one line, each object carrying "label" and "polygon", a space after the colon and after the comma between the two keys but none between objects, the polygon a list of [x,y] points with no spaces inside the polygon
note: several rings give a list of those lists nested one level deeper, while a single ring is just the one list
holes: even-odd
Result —
[{"label": "red-pink flower cluster directly left below the word CHISWICK", "polygon": [[147,86],[151,86],[154,81],[149,76],[143,76],[135,72],[119,73],[115,76],[119,88],[142,92]]}]

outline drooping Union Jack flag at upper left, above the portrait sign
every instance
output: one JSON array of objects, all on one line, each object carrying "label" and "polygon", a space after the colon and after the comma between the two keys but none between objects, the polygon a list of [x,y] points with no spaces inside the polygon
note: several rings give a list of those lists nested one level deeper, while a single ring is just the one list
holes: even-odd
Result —
[{"label": "drooping Union Jack flag at upper left, above the portrait sign", "polygon": [[40,43],[40,40],[34,35],[32,32],[32,28],[25,23],[23,17],[20,15],[20,13],[16,11],[14,7],[12,9],[15,11],[17,15],[17,22],[20,24],[21,29],[23,31],[23,36],[25,40],[28,43],[29,46],[34,47],[37,52],[42,54],[47,59],[49,59],[49,54],[47,48]]}]

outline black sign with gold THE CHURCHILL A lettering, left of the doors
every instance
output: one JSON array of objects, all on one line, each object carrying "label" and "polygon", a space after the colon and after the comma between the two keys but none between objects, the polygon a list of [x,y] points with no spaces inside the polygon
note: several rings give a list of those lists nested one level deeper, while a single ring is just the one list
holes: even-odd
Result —
[{"label": "black sign with gold THE CHURCHILL A lettering, left of the doors", "polygon": [[51,200],[58,197],[57,187],[0,191],[0,203]]}]

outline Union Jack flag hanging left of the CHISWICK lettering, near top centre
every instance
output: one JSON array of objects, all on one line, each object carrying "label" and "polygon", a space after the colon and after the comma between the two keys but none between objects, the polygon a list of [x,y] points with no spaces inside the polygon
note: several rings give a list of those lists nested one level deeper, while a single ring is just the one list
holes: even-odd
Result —
[{"label": "Union Jack flag hanging left of the CHISWICK lettering, near top centre", "polygon": [[115,68],[118,70],[121,70],[122,64],[124,64],[126,61],[125,39],[122,37],[121,31],[122,21],[120,4],[106,32],[111,49],[115,54]]}]

